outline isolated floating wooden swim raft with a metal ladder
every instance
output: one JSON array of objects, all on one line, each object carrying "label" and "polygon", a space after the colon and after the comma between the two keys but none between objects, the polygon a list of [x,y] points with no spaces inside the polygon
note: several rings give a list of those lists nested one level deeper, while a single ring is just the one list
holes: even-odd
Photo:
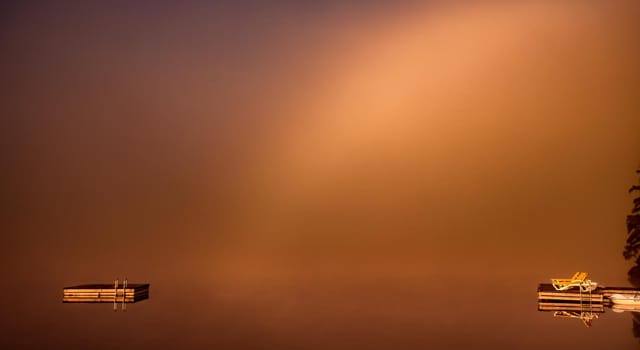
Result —
[{"label": "isolated floating wooden swim raft with a metal ladder", "polygon": [[65,303],[136,303],[149,298],[149,284],[127,284],[117,288],[114,284],[83,284],[65,287]]}]

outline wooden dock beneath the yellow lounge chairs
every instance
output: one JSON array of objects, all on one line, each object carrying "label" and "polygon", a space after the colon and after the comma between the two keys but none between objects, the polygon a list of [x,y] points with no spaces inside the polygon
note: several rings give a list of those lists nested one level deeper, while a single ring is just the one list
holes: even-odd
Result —
[{"label": "wooden dock beneath the yellow lounge chairs", "polygon": [[640,289],[629,287],[598,287],[591,292],[581,292],[578,288],[558,291],[553,288],[553,285],[542,283],[538,286],[538,302],[610,305],[610,297],[614,294],[633,298],[639,293]]}]

